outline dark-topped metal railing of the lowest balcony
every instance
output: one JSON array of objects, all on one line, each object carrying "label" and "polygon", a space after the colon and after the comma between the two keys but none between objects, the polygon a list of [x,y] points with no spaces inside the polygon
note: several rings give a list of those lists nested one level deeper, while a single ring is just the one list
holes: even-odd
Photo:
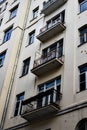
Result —
[{"label": "dark-topped metal railing of the lowest balcony", "polygon": [[58,104],[58,101],[60,100],[61,96],[62,94],[54,88],[51,88],[45,92],[41,92],[38,95],[23,101],[21,114],[40,109],[52,103]]}]

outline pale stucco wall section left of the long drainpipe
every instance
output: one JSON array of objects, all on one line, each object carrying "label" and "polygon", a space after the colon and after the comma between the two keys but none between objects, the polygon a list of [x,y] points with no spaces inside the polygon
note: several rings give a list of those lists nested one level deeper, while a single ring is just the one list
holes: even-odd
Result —
[{"label": "pale stucco wall section left of the long drainpipe", "polygon": [[[21,35],[23,32],[23,26],[25,22],[25,17],[26,17],[26,10],[27,10],[27,4],[28,0],[26,2],[22,1],[20,2],[19,0],[14,2],[10,1],[8,2],[8,6],[6,9],[6,13],[4,13],[3,17],[3,24],[1,25],[0,28],[0,53],[7,50],[4,65],[2,68],[0,68],[0,88],[1,88],[1,95],[0,95],[0,120],[2,118],[2,113],[3,113],[3,108],[4,104],[7,98],[7,92],[8,88],[10,86],[10,80],[12,77],[13,73],[13,68],[16,60],[16,55],[19,49],[19,45],[21,44]],[[9,19],[9,10],[15,7],[16,5],[19,4],[18,12],[17,15],[14,19],[8,21]],[[25,10],[23,8],[25,7]],[[20,15],[21,13],[21,15]],[[2,44],[3,37],[4,37],[4,31],[9,28],[10,26],[13,25],[13,31],[10,40]]]}]

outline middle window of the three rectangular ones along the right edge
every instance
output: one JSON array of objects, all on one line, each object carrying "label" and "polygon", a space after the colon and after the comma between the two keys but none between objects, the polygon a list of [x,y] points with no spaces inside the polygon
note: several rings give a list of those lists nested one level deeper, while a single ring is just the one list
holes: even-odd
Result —
[{"label": "middle window of the three rectangular ones along the right edge", "polygon": [[87,26],[84,26],[80,29],[80,44],[87,42]]}]

